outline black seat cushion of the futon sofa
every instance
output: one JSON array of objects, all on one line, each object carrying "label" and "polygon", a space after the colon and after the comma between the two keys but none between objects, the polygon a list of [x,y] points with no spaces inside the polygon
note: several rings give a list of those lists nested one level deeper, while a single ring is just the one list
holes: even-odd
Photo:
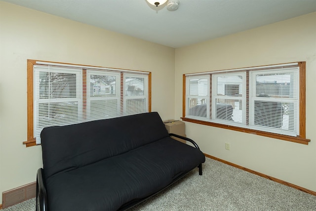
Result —
[{"label": "black seat cushion of the futon sofa", "polygon": [[200,150],[166,137],[49,177],[48,210],[118,210],[158,192],[204,162]]}]

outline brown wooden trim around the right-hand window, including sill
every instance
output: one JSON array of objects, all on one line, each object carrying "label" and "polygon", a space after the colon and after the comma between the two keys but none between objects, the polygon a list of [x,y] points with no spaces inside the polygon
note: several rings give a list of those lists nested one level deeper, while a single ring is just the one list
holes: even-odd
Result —
[{"label": "brown wooden trim around the right-hand window, including sill", "polygon": [[239,132],[246,132],[246,133],[251,133],[255,135],[261,135],[261,136],[266,136],[266,137],[271,137],[271,138],[276,138],[280,140],[291,141],[295,143],[308,145],[308,143],[311,140],[306,138],[306,62],[305,61],[298,62],[298,66],[300,68],[300,75],[299,75],[299,83],[300,83],[300,89],[299,89],[300,91],[299,127],[300,128],[299,130],[300,130],[300,134],[296,137],[185,118],[185,106],[186,106],[186,76],[185,74],[183,74],[183,95],[182,95],[182,115],[183,116],[181,119],[185,122],[191,122],[191,123],[212,126],[212,127],[219,127],[219,128],[224,128],[224,129],[231,129],[231,130],[235,130]]}]

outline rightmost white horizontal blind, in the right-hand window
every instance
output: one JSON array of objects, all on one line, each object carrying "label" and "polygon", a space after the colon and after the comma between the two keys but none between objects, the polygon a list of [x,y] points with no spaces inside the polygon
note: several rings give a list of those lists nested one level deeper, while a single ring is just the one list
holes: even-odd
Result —
[{"label": "rightmost white horizontal blind, in the right-hand window", "polygon": [[292,136],[299,134],[298,74],[298,67],[250,71],[250,128]]}]

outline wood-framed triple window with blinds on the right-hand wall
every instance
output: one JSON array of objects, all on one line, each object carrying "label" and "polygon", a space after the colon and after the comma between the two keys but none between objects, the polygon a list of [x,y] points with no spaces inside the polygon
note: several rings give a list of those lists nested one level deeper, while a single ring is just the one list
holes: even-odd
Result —
[{"label": "wood-framed triple window with blinds on the right-hand wall", "polygon": [[303,144],[305,62],[184,75],[183,120]]}]

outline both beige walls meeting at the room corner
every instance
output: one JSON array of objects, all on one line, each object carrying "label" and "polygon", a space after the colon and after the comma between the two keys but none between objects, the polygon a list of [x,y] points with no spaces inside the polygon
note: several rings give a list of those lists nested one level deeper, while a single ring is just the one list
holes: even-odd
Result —
[{"label": "both beige walls meeting at the room corner", "polygon": [[0,193],[34,182],[42,166],[40,146],[22,144],[27,59],[150,71],[162,119],[182,116],[184,73],[306,61],[309,145],[192,123],[186,130],[209,155],[316,191],[316,13],[174,50],[0,1]]}]

